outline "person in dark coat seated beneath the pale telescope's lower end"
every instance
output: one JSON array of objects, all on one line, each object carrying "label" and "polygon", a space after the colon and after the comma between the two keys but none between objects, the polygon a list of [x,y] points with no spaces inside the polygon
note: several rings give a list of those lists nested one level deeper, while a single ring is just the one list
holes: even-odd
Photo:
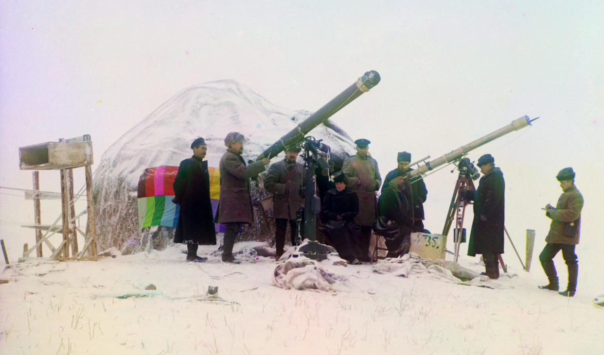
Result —
[{"label": "person in dark coat seated beneath the pale telescope's lower end", "polygon": [[[405,194],[406,183],[398,176],[388,183],[377,203],[378,220],[385,238],[387,257],[399,257],[409,253],[410,235],[414,225],[409,199]],[[374,230],[376,228],[374,227]]]}]

